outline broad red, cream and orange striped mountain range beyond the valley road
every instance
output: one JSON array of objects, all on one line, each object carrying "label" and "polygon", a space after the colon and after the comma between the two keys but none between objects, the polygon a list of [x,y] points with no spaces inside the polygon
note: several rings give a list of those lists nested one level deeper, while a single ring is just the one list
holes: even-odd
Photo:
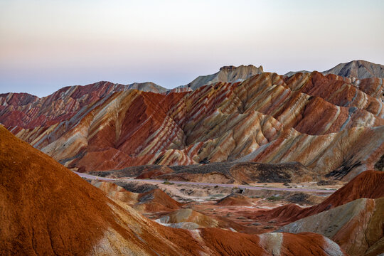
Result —
[{"label": "broad red, cream and orange striped mountain range beyond the valley road", "polygon": [[78,107],[60,105],[64,96],[58,91],[58,100],[52,100],[58,107],[34,107],[49,113],[43,115],[49,122],[39,121],[38,115],[28,122],[13,118],[15,112],[29,113],[26,106],[36,104],[31,100],[20,110],[3,107],[1,122],[65,166],[83,171],[298,161],[319,176],[350,179],[373,169],[384,152],[384,103],[376,97],[383,85],[373,78],[360,85],[365,89],[347,78],[317,72],[291,78],[262,73],[193,92],[106,95],[110,89],[103,87],[91,97],[95,101],[85,100],[90,96],[75,100]]}]

